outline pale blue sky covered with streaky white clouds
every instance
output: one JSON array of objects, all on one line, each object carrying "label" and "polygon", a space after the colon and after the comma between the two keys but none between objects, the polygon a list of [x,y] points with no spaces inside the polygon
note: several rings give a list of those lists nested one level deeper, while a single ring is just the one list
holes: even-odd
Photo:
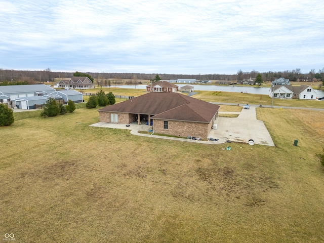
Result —
[{"label": "pale blue sky covered with streaky white clouds", "polygon": [[322,0],[1,0],[0,68],[302,73],[324,67]]}]

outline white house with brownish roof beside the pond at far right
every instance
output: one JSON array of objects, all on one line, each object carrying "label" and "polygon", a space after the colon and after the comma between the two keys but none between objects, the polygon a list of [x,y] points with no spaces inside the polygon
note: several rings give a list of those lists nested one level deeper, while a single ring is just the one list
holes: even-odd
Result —
[{"label": "white house with brownish roof beside the pond at far right", "polygon": [[310,86],[302,85],[293,87],[291,85],[275,85],[270,89],[270,98],[273,99],[301,99],[315,100],[316,92]]}]

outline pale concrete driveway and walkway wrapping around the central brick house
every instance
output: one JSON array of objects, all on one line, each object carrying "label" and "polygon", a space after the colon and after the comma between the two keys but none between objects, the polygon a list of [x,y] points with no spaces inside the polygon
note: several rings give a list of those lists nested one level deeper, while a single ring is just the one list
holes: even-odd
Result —
[{"label": "pale concrete driveway and walkway wrapping around the central brick house", "polygon": [[151,126],[130,124],[126,127],[126,124],[110,124],[110,123],[96,123],[90,125],[91,127],[112,128],[112,129],[128,129],[131,130],[131,134],[143,137],[159,138],[178,140],[192,143],[204,143],[204,144],[221,144],[226,143],[228,140],[231,142],[249,143],[250,139],[254,140],[254,144],[275,146],[272,138],[264,126],[262,120],[257,120],[256,107],[250,106],[249,110],[242,109],[240,112],[220,112],[220,113],[234,113],[239,114],[236,118],[217,117],[216,123],[217,129],[212,129],[208,134],[208,138],[219,139],[218,141],[198,141],[176,137],[157,136],[149,134],[141,134],[138,131],[148,131]]}]

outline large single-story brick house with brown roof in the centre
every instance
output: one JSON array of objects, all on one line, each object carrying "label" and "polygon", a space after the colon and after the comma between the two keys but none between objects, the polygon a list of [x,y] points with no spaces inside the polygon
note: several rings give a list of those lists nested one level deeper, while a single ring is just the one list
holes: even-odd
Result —
[{"label": "large single-story brick house with brown roof in the centre", "polygon": [[99,109],[106,123],[151,124],[155,133],[207,138],[219,106],[179,93],[150,92],[134,99]]}]

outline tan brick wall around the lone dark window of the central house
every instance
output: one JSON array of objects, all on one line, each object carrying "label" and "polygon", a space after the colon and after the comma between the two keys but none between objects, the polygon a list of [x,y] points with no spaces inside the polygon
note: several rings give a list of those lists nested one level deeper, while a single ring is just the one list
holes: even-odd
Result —
[{"label": "tan brick wall around the lone dark window of the central house", "polygon": [[154,119],[153,130],[155,133],[168,134],[180,137],[194,136],[207,138],[208,133],[212,128],[210,124],[194,123],[189,121],[174,121],[169,120],[169,129],[163,129],[163,120]]}]

